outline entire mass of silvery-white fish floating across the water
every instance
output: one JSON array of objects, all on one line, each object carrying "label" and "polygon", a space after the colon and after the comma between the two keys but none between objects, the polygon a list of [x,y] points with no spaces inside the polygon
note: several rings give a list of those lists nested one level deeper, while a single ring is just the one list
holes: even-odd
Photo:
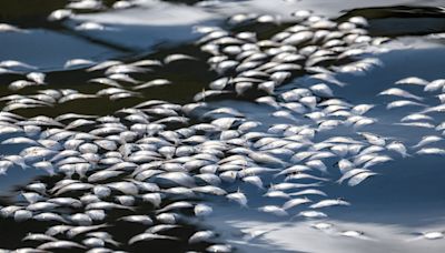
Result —
[{"label": "entire mass of silvery-white fish floating across the water", "polygon": [[[115,8],[128,4],[131,2],[118,1]],[[100,1],[93,0],[72,1],[67,7],[102,8]],[[70,13],[59,10],[51,18],[62,19]],[[131,63],[73,59],[67,68],[88,65],[87,72],[102,71],[103,77],[90,82],[107,88],[96,94],[44,89],[36,94],[1,98],[7,102],[0,112],[0,136],[4,139],[1,145],[21,150],[1,158],[0,174],[19,168],[49,174],[24,185],[16,203],[0,209],[1,219],[49,224],[43,231],[30,231],[22,240],[32,246],[19,252],[116,252],[159,241],[171,245],[185,243],[190,252],[231,252],[234,249],[218,239],[212,227],[205,227],[205,222],[192,225],[211,215],[214,201],[234,202],[276,216],[324,220],[328,216],[325,210],[352,204],[342,196],[328,195],[323,191],[325,183],[356,186],[377,175],[374,166],[396,158],[445,154],[444,149],[434,146],[443,140],[444,123],[433,124],[434,118],[429,115],[444,111],[444,79],[428,82],[411,77],[397,81],[397,88],[376,94],[402,98],[388,102],[388,110],[416,109],[396,124],[435,129],[438,134],[407,146],[400,140],[364,131],[378,122],[366,115],[375,105],[353,104],[337,98],[333,87],[346,83],[335,74],[363,73],[380,65],[378,59],[363,55],[367,47],[378,47],[388,39],[369,37],[367,21],[362,17],[336,23],[297,11],[294,18],[295,24],[264,40],[250,31],[197,28],[204,33],[197,44],[211,55],[208,63],[219,78],[198,93],[192,103],[148,100],[111,115],[66,113],[24,118],[12,112],[57,107],[78,99],[108,97],[115,101],[140,97],[140,90],[170,81],[144,82],[134,79],[132,73],[174,61],[196,60],[186,54]],[[237,16],[229,21],[243,24],[250,19]],[[266,16],[255,20],[275,22]],[[10,83],[11,90],[46,85],[44,73],[22,62],[0,62],[0,73],[14,67],[29,71],[22,80]],[[298,74],[307,78],[291,81]],[[405,84],[422,89],[414,94],[398,88]],[[426,93],[434,92],[439,104],[424,103]],[[243,99],[253,93],[257,104],[267,108],[274,123],[253,119],[231,107],[215,108],[209,102],[221,94]],[[263,204],[250,203],[250,198],[263,198]],[[137,229],[117,239],[113,231],[123,224],[137,224]],[[180,236],[171,232],[181,227],[191,232]],[[333,224],[324,221],[314,227],[334,230]],[[373,240],[362,231],[336,234]],[[443,236],[443,232],[425,232],[415,240]]]}]

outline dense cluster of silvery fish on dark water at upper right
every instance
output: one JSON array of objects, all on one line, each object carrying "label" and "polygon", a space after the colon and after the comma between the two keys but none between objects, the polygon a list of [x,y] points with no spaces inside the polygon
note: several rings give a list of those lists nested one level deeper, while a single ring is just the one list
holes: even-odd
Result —
[{"label": "dense cluster of silvery fish on dark water at upper right", "polygon": [[[301,72],[312,73],[310,79],[342,87],[344,83],[333,77],[333,70],[338,69],[335,62],[364,54],[365,45],[378,45],[387,40],[367,36],[364,29],[367,21],[362,17],[354,17],[339,24],[312,16],[308,11],[297,11],[294,17],[300,22],[268,40],[258,40],[255,32],[231,36],[219,28],[198,28],[198,31],[206,33],[198,41],[202,44],[201,50],[212,54],[208,63],[225,75],[215,80],[210,84],[211,91],[204,92],[202,95],[227,89],[235,90],[238,95],[248,93],[251,89],[274,94],[275,89],[289,80],[293,73]],[[247,20],[241,23],[244,22]],[[377,59],[366,59],[344,65],[338,71],[366,71],[375,64],[379,64]],[[329,87],[323,83],[312,87],[310,92],[319,97],[333,95]],[[315,107],[312,100],[304,103]]]}]

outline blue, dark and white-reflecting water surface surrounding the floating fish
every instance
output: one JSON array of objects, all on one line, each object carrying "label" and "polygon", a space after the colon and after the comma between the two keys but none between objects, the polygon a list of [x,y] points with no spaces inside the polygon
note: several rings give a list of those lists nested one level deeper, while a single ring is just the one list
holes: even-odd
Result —
[{"label": "blue, dark and white-reflecting water surface surrounding the floating fish", "polygon": [[[19,91],[8,89],[9,83],[22,80],[23,73],[29,72],[21,68],[13,69],[14,73],[0,72],[0,94],[32,95],[42,89],[75,89],[80,93],[95,94],[109,88],[91,83],[89,80],[105,77],[105,70],[87,71],[88,67],[79,65],[65,69],[63,64],[71,59],[88,59],[95,62],[119,60],[132,63],[140,60],[162,61],[172,53],[184,53],[192,59],[176,61],[162,65],[151,65],[148,71],[131,73],[131,78],[140,83],[155,79],[168,79],[168,85],[138,90],[138,94],[111,101],[107,97],[79,99],[65,103],[31,109],[18,109],[13,112],[31,118],[48,115],[56,118],[63,113],[79,113],[92,115],[119,117],[119,110],[131,108],[148,100],[165,100],[171,103],[187,104],[194,101],[195,94],[208,90],[211,81],[219,75],[212,70],[207,60],[209,53],[202,52],[196,40],[200,37],[194,33],[195,26],[217,26],[230,32],[253,31],[258,39],[268,39],[273,34],[295,24],[289,13],[299,9],[310,9],[314,13],[329,17],[335,22],[344,22],[350,17],[360,16],[368,20],[367,28],[370,37],[386,37],[390,41],[375,47],[367,55],[378,59],[382,64],[369,67],[365,71],[340,72],[336,78],[347,83],[339,88],[332,85],[337,98],[345,99],[353,104],[373,103],[376,107],[368,117],[378,119],[375,125],[365,126],[363,131],[402,140],[406,145],[414,145],[425,135],[438,134],[439,131],[425,128],[400,126],[394,123],[408,113],[417,112],[412,108],[387,110],[386,104],[393,100],[376,94],[394,82],[406,77],[418,77],[427,81],[445,78],[445,12],[444,2],[425,1],[394,1],[354,3],[350,1],[136,1],[136,6],[125,10],[112,10],[116,1],[103,1],[96,10],[77,10],[76,16],[68,20],[48,21],[47,17],[55,10],[61,9],[67,1],[32,0],[0,2],[0,23],[9,23],[23,29],[26,32],[0,31],[0,62],[6,60],[22,61],[36,67],[34,71],[47,74],[44,87],[29,87]],[[344,7],[342,6],[344,4]],[[375,4],[375,6],[373,6]],[[332,7],[333,6],[333,7]],[[335,7],[334,7],[335,6]],[[342,6],[339,9],[338,6]],[[332,7],[332,8],[330,8]],[[237,13],[280,14],[283,20],[276,23],[258,23],[247,21],[231,24],[228,19]],[[83,31],[76,27],[85,21],[95,21],[105,24],[103,30]],[[437,33],[439,36],[431,36]],[[441,37],[442,34],[442,37]],[[437,39],[438,38],[438,39]],[[347,58],[343,61],[326,61],[324,67],[354,63],[359,59]],[[310,80],[305,70],[293,71],[281,91],[298,87],[309,87],[318,83]],[[130,90],[135,84],[121,82],[123,89]],[[409,92],[421,94],[422,88],[408,87]],[[217,108],[234,108],[243,112],[249,120],[257,120],[264,125],[273,123],[289,123],[288,120],[270,117],[273,109],[256,103],[254,100],[265,95],[261,91],[248,91],[244,95],[225,94],[206,98],[209,108],[195,113],[191,120],[181,126],[194,123],[208,122],[202,117],[206,111]],[[423,94],[423,93],[422,93]],[[425,94],[425,104],[437,105],[437,98]],[[0,107],[7,107],[8,101],[0,101]],[[122,114],[123,115],[123,114]],[[434,113],[434,122],[445,120],[443,112]],[[130,122],[127,122],[130,124]],[[171,129],[179,126],[172,125]],[[85,129],[89,131],[91,129]],[[317,141],[333,136],[335,133],[356,136],[350,130],[332,130],[317,135]],[[362,130],[360,130],[362,131]],[[11,138],[1,135],[1,141]],[[434,148],[444,148],[444,141],[431,144]],[[22,145],[0,145],[2,155],[17,154]],[[414,149],[409,149],[414,153]],[[258,189],[236,183],[224,185],[230,192],[241,189],[249,200],[249,208],[243,209],[224,198],[204,198],[205,203],[214,208],[211,216],[199,220],[191,217],[192,211],[181,213],[187,222],[178,229],[168,231],[165,235],[178,236],[180,240],[155,240],[136,245],[121,244],[112,250],[127,252],[185,252],[205,251],[212,243],[229,243],[239,252],[442,252],[445,249],[443,239],[419,240],[406,242],[416,236],[416,233],[428,231],[444,231],[445,229],[445,173],[442,155],[412,155],[406,159],[394,156],[394,161],[373,166],[378,175],[350,188],[347,184],[337,184],[335,180],[326,182],[320,188],[333,199],[343,198],[352,203],[346,208],[328,208],[326,213],[330,222],[339,230],[366,231],[372,240],[356,240],[326,234],[310,227],[312,220],[301,217],[276,217],[258,212],[257,208],[265,204],[276,204],[265,201],[264,192]],[[336,161],[327,160],[329,174],[338,179]],[[323,174],[322,174],[323,175]],[[123,176],[122,176],[123,178]],[[53,185],[62,176],[49,176],[46,172],[33,168],[22,170],[19,166],[10,169],[6,175],[0,175],[1,205],[23,203],[17,194],[29,182],[41,181]],[[274,182],[274,179],[265,179]],[[115,194],[115,193],[113,193]],[[75,196],[67,194],[67,196]],[[111,199],[110,199],[111,200]],[[314,198],[312,200],[318,200]],[[322,200],[322,198],[319,199]],[[20,202],[21,201],[21,202]],[[171,201],[172,200],[168,200]],[[177,201],[177,200],[175,200]],[[277,202],[278,203],[278,202]],[[168,203],[166,203],[167,205]],[[164,205],[164,203],[162,203]],[[141,201],[136,202],[137,213],[155,212],[155,206]],[[300,211],[300,210],[298,210]],[[325,210],[324,210],[325,211]],[[70,213],[82,212],[70,210]],[[141,233],[146,226],[117,221],[131,212],[113,211],[107,213],[105,223],[110,226],[102,231],[109,232],[118,242],[127,242],[134,234]],[[13,250],[18,247],[36,247],[40,243],[22,242],[21,239],[29,232],[43,233],[52,223],[27,221],[17,225],[12,217],[0,220],[0,247]],[[4,229],[3,229],[4,227]],[[218,236],[214,242],[202,242],[190,245],[187,239],[196,231],[209,229]],[[243,240],[244,230],[269,231],[254,240]],[[131,233],[126,233],[131,231]],[[72,241],[81,242],[83,235]],[[63,250],[61,252],[67,252]]]}]

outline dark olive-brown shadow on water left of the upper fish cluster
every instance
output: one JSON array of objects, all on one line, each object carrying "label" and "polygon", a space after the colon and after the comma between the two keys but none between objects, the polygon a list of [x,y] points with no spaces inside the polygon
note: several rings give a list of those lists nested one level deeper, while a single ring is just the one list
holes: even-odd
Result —
[{"label": "dark olive-brown shadow on water left of the upper fish cluster", "polygon": [[[69,101],[61,104],[56,104],[55,107],[48,108],[36,108],[17,110],[16,112],[26,115],[34,117],[39,114],[56,117],[62,113],[72,112],[76,109],[77,113],[86,114],[98,114],[107,115],[116,112],[122,108],[129,108],[136,105],[137,103],[144,102],[150,99],[166,100],[175,103],[186,103],[191,101],[192,97],[200,92],[208,83],[216,78],[216,73],[209,71],[207,63],[204,59],[207,55],[200,52],[196,45],[186,44],[169,49],[158,49],[155,53],[150,53],[145,57],[131,57],[130,59],[123,61],[135,61],[144,59],[160,60],[171,53],[186,53],[192,55],[198,60],[182,60],[177,62],[171,62],[170,64],[164,67],[152,67],[149,71],[145,73],[136,73],[132,77],[139,80],[140,83],[155,80],[155,79],[168,79],[171,84],[162,87],[154,87],[149,89],[138,90],[139,95],[129,99],[122,99],[119,101],[110,102],[108,98],[98,99],[87,99],[87,100],[76,100]],[[46,89],[75,89],[79,92],[93,94],[101,89],[109,87],[95,84],[88,82],[88,80],[93,78],[103,77],[103,71],[86,72],[83,69],[70,70],[70,71],[56,71],[49,72],[47,77]],[[8,90],[8,84],[12,81],[22,79],[21,74],[3,74],[0,75],[0,93],[3,95],[14,94],[17,91]],[[122,83],[128,90],[135,85],[132,83]],[[175,92],[170,92],[171,90]],[[36,94],[41,88],[30,87],[20,91],[22,94]],[[4,105],[7,101],[1,104]],[[91,107],[95,104],[95,107]]]}]

